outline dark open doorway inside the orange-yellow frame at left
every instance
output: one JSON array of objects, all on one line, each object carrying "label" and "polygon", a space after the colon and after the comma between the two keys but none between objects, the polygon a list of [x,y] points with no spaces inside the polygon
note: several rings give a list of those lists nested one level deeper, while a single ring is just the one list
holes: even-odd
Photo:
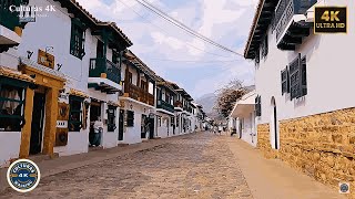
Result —
[{"label": "dark open doorway inside the orange-yellow frame at left", "polygon": [[44,121],[44,102],[45,94],[34,93],[33,112],[31,123],[30,155],[42,151],[43,121]]}]

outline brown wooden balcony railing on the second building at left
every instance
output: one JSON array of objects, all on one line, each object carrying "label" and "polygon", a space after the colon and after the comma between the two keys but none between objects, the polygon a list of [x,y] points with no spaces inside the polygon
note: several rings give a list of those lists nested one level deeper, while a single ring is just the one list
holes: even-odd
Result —
[{"label": "brown wooden balcony railing on the second building at left", "polygon": [[142,103],[154,106],[154,95],[150,94],[148,91],[133,85],[131,83],[124,83],[124,93],[126,93],[131,98],[140,101]]}]

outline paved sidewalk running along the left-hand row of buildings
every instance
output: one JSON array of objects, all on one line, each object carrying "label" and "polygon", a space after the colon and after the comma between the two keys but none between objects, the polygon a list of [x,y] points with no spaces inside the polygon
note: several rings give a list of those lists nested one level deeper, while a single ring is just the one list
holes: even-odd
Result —
[{"label": "paved sidewalk running along the left-hand row of buildings", "polygon": [[[161,146],[164,145],[166,142],[180,139],[186,136],[191,136],[191,134],[169,137],[164,139],[151,139],[149,142],[143,142],[140,144],[108,148],[102,150],[93,150],[85,154],[63,156],[54,159],[43,160],[37,164],[41,171],[41,179],[43,179],[45,177],[80,168],[87,165],[101,163],[106,159],[112,159],[119,156]],[[0,195],[4,189],[10,187],[6,177],[7,170],[8,168],[0,169]]]}]

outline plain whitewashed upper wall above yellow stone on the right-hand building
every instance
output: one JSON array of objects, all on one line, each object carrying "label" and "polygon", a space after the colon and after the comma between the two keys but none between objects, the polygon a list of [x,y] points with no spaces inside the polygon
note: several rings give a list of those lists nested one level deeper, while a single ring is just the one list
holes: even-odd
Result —
[{"label": "plain whitewashed upper wall above yellow stone on the right-hand building", "polygon": [[[348,12],[355,10],[354,1],[347,0],[328,0],[326,6],[347,6]],[[260,124],[272,119],[273,96],[278,121],[355,106],[355,92],[352,92],[355,85],[354,53],[353,45],[349,45],[355,43],[354,23],[354,14],[348,14],[347,34],[311,33],[296,51],[280,51],[275,34],[268,30],[268,55],[266,60],[261,59],[255,72],[256,92],[262,96],[262,116],[257,121]],[[290,101],[290,94],[281,94],[281,71],[297,53],[307,59],[308,94],[302,100]]]}]

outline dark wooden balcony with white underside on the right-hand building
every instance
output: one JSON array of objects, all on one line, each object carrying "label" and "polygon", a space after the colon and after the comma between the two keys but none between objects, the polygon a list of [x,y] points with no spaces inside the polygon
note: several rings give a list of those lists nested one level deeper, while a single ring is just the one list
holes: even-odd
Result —
[{"label": "dark wooden balcony with white underside on the right-hand building", "polygon": [[311,23],[305,22],[306,11],[317,0],[281,0],[275,10],[276,42],[280,50],[295,50],[304,36],[310,35]]}]

